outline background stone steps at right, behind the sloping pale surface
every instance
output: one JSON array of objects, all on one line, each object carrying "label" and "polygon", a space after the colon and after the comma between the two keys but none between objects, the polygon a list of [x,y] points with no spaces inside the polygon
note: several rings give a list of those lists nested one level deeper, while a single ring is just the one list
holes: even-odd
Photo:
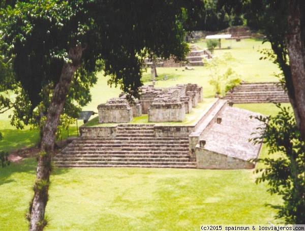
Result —
[{"label": "background stone steps at right, behind the sloping pale surface", "polygon": [[288,103],[287,93],[276,82],[242,83],[228,92],[225,100],[234,104],[242,103]]}]

